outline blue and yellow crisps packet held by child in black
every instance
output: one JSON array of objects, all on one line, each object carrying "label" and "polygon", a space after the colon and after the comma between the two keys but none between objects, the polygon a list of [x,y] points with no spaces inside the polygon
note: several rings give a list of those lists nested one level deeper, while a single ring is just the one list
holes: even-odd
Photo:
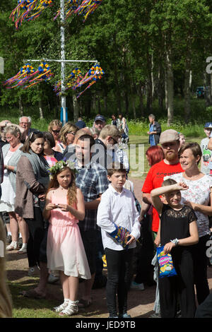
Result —
[{"label": "blue and yellow crisps packet held by child in black", "polygon": [[159,278],[177,275],[172,261],[172,255],[164,252],[164,246],[157,248],[157,259],[159,264]]}]

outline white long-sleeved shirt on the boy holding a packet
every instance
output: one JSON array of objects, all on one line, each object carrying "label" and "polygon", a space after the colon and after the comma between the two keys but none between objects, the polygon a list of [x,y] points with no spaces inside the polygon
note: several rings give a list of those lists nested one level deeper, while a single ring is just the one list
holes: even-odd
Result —
[{"label": "white long-sleeved shirt on the boy holding a packet", "polygon": [[[141,225],[133,194],[125,188],[119,193],[110,184],[98,206],[97,225],[101,227],[104,249],[124,250],[122,244],[108,234],[116,229],[114,224],[126,228],[135,239],[139,239]],[[134,247],[136,242],[130,244],[129,249]]]}]

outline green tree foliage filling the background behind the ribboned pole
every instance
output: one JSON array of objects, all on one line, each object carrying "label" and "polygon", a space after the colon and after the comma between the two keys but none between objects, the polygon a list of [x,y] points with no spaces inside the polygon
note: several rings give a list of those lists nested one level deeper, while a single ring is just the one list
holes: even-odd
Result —
[{"label": "green tree foliage filling the background behind the ribboned pole", "polygon": [[[9,16],[16,0],[1,0],[0,4],[0,56],[5,59],[5,73],[1,81],[14,76],[27,59],[59,59],[60,20],[53,20],[59,0],[52,8],[30,22],[24,21],[16,30]],[[192,90],[203,85],[206,57],[211,49],[211,6],[206,0],[104,0],[101,6],[83,23],[82,16],[71,16],[65,23],[66,59],[98,59],[105,77],[86,91],[78,100],[80,112],[85,117],[97,113],[110,115],[122,112],[126,117],[146,116],[149,112],[148,97],[151,74],[155,79],[155,95],[151,112],[166,117],[164,95],[165,50],[172,49],[175,77],[175,97],[183,98],[184,71],[187,59],[192,69]],[[153,59],[153,66],[151,61]],[[37,66],[38,63],[32,63]],[[42,103],[45,116],[58,114],[60,100],[53,92],[53,85],[60,79],[60,64],[50,64],[54,78],[49,83],[23,90],[7,90],[0,86],[0,106],[10,114],[23,106],[27,113],[39,117],[38,102]],[[90,64],[67,64],[66,76],[73,68],[83,73]],[[158,81],[158,71],[161,78]],[[143,86],[143,96],[139,94]],[[159,109],[159,87],[163,90],[163,109]],[[83,89],[84,87],[82,87]],[[77,93],[81,89],[77,90]],[[70,119],[73,118],[73,91],[67,93]],[[141,99],[143,98],[143,108]],[[133,102],[132,102],[133,101]],[[134,104],[134,107],[133,107]],[[184,116],[184,105],[175,101],[175,116]],[[199,116],[198,100],[191,99],[191,121]]]}]

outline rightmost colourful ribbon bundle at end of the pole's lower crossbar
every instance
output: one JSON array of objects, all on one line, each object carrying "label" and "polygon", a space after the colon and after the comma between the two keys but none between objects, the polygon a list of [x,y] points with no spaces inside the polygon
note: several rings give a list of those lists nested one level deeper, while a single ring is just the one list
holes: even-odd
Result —
[{"label": "rightmost colourful ribbon bundle at end of the pole's lower crossbar", "polygon": [[86,89],[77,95],[77,98],[80,97],[87,89],[89,89],[91,85],[100,80],[103,75],[105,75],[105,72],[102,70],[99,64],[95,64],[95,66],[92,66],[89,69],[88,73],[86,73],[86,76],[78,84],[73,85],[73,90],[76,90],[76,88],[79,88],[81,87],[81,85],[84,85],[91,81],[91,83],[86,87]]}]

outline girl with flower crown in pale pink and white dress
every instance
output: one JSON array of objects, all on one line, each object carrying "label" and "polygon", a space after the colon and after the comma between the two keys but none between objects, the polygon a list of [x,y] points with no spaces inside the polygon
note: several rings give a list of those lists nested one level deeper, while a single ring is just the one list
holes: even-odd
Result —
[{"label": "girl with flower crown in pale pink and white dress", "polygon": [[75,184],[75,170],[69,160],[49,169],[50,183],[43,216],[49,220],[47,267],[59,271],[64,302],[54,311],[61,316],[78,313],[78,280],[90,279],[78,220],[85,216],[84,198]]}]

